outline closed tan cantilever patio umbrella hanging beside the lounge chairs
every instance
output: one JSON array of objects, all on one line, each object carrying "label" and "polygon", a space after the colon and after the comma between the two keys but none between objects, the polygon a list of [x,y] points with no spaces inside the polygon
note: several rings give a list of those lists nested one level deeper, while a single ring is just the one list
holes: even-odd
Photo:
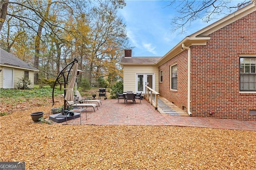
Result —
[{"label": "closed tan cantilever patio umbrella hanging beside the lounge chairs", "polygon": [[66,88],[66,96],[65,96],[65,100],[66,101],[72,101],[74,99],[74,85],[76,82],[76,75],[77,75],[77,69],[78,69],[78,63],[74,63],[74,68],[71,72],[71,78],[70,81],[68,83],[68,88]]}]

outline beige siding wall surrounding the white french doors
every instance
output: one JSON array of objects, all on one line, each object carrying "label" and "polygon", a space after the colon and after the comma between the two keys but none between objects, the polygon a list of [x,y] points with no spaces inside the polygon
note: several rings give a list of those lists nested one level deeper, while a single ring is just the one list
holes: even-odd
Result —
[{"label": "beige siding wall surrounding the white french doors", "polygon": [[155,91],[158,92],[158,67],[153,65],[124,65],[124,91],[136,91],[136,73],[154,73]]}]

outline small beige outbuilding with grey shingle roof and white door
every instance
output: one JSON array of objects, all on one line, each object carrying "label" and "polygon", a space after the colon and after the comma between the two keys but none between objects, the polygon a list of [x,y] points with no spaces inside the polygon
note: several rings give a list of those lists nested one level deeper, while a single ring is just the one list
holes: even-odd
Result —
[{"label": "small beige outbuilding with grey shingle roof and white door", "polygon": [[3,49],[0,49],[0,70],[0,88],[17,88],[19,79],[23,77],[31,81],[30,87],[34,87],[34,71],[38,69]]}]

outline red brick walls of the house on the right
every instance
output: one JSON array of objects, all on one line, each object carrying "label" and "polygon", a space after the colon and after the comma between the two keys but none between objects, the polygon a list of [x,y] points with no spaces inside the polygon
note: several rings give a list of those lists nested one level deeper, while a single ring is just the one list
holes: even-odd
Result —
[{"label": "red brick walls of the house on the right", "polygon": [[[191,46],[191,112],[193,116],[256,120],[256,93],[239,93],[239,55],[256,55],[256,12],[210,34],[206,45]],[[159,69],[160,95],[187,106],[187,50]],[[178,91],[170,91],[170,65],[178,63]],[[166,93],[168,92],[168,93]],[[210,115],[209,111],[214,111]]]}]

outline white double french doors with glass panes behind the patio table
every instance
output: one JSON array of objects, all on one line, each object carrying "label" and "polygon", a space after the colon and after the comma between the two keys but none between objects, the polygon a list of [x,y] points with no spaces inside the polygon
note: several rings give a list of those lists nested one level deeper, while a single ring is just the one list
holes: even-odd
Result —
[{"label": "white double french doors with glass panes behind the patio table", "polygon": [[137,93],[145,93],[145,85],[150,87],[151,89],[155,89],[155,75],[154,74],[145,74],[145,73],[137,73],[136,74],[136,92]]}]

